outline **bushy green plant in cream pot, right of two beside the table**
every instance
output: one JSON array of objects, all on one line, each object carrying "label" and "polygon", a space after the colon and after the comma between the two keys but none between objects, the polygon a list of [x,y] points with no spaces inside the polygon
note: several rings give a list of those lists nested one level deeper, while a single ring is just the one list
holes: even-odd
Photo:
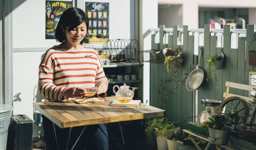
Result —
[{"label": "bushy green plant in cream pot, right of two beside the table", "polygon": [[172,123],[165,126],[163,135],[166,137],[168,150],[177,150],[177,140],[183,136],[181,128],[175,127]]}]

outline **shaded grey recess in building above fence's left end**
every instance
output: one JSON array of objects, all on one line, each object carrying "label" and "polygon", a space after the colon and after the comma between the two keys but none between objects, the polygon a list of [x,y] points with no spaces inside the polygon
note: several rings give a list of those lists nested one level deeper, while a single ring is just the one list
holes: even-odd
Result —
[{"label": "shaded grey recess in building above fence's left end", "polygon": [[159,25],[165,25],[166,28],[174,25],[182,27],[182,5],[158,5]]}]

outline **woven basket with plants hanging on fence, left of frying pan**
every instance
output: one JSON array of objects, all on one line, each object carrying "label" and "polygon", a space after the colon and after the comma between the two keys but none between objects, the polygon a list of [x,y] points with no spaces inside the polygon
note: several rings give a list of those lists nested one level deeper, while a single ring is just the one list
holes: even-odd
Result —
[{"label": "woven basket with plants hanging on fence, left of frying pan", "polygon": [[[177,51],[179,49],[179,51]],[[165,56],[165,64],[170,64],[173,67],[181,67],[182,66],[182,52],[180,47],[175,50],[172,48],[163,49],[163,55]]]}]

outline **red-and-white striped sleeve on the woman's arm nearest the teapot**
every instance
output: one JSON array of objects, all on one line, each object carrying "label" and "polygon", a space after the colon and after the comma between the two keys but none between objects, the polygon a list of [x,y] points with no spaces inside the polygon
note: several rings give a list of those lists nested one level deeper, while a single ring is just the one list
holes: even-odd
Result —
[{"label": "red-and-white striped sleeve on the woman's arm nearest the teapot", "polygon": [[97,64],[98,64],[98,70],[96,71],[96,78],[95,78],[95,86],[98,87],[100,83],[106,84],[106,86],[109,86],[108,78],[106,78],[103,66],[100,61],[100,57],[97,54]]}]

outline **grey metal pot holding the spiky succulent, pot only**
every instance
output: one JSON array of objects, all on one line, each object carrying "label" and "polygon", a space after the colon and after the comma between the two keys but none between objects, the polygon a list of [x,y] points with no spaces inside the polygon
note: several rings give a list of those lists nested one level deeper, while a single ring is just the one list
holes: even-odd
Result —
[{"label": "grey metal pot holding the spiky succulent, pot only", "polygon": [[215,139],[215,140],[211,140],[212,144],[216,144],[216,145],[228,144],[228,136],[229,136],[228,130],[213,129],[212,126],[209,126],[208,129],[209,129],[210,137]]}]

